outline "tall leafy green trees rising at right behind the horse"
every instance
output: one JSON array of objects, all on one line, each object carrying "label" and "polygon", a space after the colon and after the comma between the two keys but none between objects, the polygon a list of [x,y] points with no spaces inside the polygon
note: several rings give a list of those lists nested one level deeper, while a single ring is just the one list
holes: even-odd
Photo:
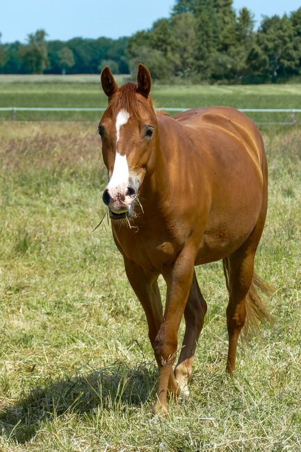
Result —
[{"label": "tall leafy green trees rising at right behind the horse", "polygon": [[130,64],[144,61],[154,78],[264,83],[301,75],[301,8],[263,17],[254,31],[247,8],[232,0],[177,0],[170,17],[129,39]]}]

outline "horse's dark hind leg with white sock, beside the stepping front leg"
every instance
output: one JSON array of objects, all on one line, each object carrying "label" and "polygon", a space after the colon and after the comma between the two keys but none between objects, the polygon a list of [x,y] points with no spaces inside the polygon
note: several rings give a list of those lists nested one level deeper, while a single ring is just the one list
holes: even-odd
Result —
[{"label": "horse's dark hind leg with white sock, beside the stepping front leg", "polygon": [[188,382],[192,374],[195,348],[204,325],[206,310],[206,301],[202,296],[194,271],[193,282],[190,287],[188,301],[184,311],[186,328],[183,346],[175,369],[175,377],[179,388],[181,389],[181,394],[184,396],[188,396],[189,394]]}]

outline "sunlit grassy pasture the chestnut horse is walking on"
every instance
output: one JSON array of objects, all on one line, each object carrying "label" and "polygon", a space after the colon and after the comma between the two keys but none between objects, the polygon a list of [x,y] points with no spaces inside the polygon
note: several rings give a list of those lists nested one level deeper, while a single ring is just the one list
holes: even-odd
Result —
[{"label": "sunlit grassy pasture the chestnut horse is walking on", "polygon": [[[46,97],[55,88],[60,95]],[[68,98],[62,86],[40,89],[43,102]],[[183,92],[197,102],[193,89]],[[253,89],[263,88],[212,87],[223,99]],[[298,92],[270,89],[279,89],[270,102],[298,102]],[[69,98],[88,102],[85,90]],[[104,102],[90,90],[91,102]],[[155,87],[154,97],[176,102],[181,90]],[[200,97],[209,90],[197,88]],[[161,419],[150,414],[157,373],[143,309],[110,225],[92,232],[106,181],[95,124],[0,122],[0,451],[301,450],[301,131],[267,129],[263,138],[270,204],[256,267],[276,288],[266,298],[275,325],[241,341],[228,378],[222,266],[198,268],[209,311],[190,398],[170,401]]]}]

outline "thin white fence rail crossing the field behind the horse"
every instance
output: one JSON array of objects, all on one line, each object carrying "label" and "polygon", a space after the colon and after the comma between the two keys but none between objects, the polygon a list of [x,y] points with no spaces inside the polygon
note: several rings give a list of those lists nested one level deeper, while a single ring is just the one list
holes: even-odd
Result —
[{"label": "thin white fence rail crossing the field behind the horse", "polygon": [[[186,111],[190,108],[179,107],[167,107],[157,108],[157,110],[163,111]],[[25,106],[7,106],[0,107],[0,111],[10,111],[10,119],[16,120],[17,111],[105,111],[106,108],[74,108],[74,107],[25,107]],[[284,124],[293,125],[297,124],[295,119],[295,113],[301,113],[301,108],[238,108],[239,111],[244,113],[288,113],[290,114],[289,122],[259,122],[258,124]]]}]

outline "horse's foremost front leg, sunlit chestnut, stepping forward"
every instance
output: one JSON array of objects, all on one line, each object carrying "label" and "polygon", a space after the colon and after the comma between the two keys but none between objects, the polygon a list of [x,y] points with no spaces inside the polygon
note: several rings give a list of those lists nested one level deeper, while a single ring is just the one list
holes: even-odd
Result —
[{"label": "horse's foremost front leg, sunlit chestnut, stepping forward", "polygon": [[195,253],[184,248],[173,268],[163,276],[167,295],[163,322],[154,341],[159,376],[154,414],[167,414],[168,381],[173,376],[172,365],[177,355],[178,330],[193,280]]}]

